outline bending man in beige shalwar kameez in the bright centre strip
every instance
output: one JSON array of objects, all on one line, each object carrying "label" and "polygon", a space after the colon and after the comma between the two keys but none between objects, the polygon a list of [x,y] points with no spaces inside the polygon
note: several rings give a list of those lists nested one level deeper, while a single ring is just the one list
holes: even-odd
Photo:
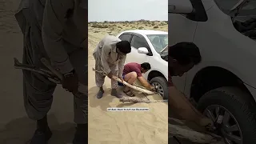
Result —
[{"label": "bending man in beige shalwar kameez in the bright centre strip", "polygon": [[[130,42],[121,41],[112,35],[107,35],[103,38],[94,50],[95,69],[103,70],[111,78],[111,95],[117,98],[121,98],[122,94],[118,93],[118,82],[112,77],[113,75],[118,76],[123,81],[122,70],[126,61],[126,54],[129,54],[130,50]],[[99,87],[97,98],[102,98],[104,94],[102,86],[105,82],[105,77],[101,73],[95,73],[96,85]]]}]

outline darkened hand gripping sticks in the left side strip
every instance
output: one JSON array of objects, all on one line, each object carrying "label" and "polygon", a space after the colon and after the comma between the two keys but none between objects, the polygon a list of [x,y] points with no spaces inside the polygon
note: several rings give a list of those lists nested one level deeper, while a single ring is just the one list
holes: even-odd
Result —
[{"label": "darkened hand gripping sticks in the left side strip", "polygon": [[64,76],[62,87],[72,93],[78,92],[78,74],[71,73]]}]

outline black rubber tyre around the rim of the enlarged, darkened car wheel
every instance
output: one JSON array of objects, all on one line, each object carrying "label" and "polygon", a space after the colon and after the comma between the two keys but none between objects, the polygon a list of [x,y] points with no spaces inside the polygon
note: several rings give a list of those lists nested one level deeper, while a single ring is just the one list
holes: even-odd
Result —
[{"label": "black rubber tyre around the rim of the enlarged, darkened car wheel", "polygon": [[198,110],[203,113],[209,106],[222,106],[234,116],[240,128],[242,144],[256,143],[256,104],[250,94],[236,87],[210,90],[199,99]]}]

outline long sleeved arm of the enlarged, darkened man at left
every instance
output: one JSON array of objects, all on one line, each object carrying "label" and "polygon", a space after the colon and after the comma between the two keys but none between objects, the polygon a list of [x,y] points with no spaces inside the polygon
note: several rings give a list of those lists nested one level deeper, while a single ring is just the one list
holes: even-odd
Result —
[{"label": "long sleeved arm of the enlarged, darkened man at left", "polygon": [[66,22],[68,10],[74,9],[74,0],[46,0],[42,20],[42,41],[46,53],[62,74],[66,74],[74,67],[66,50],[62,46],[62,30]]}]

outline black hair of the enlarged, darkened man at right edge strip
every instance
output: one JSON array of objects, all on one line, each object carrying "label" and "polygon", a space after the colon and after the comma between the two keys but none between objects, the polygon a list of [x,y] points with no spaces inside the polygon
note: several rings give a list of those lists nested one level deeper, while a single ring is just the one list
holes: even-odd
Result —
[{"label": "black hair of the enlarged, darkened man at right edge strip", "polygon": [[193,42],[179,42],[174,46],[169,46],[168,57],[176,59],[182,66],[191,62],[198,65],[202,60],[199,48]]}]

